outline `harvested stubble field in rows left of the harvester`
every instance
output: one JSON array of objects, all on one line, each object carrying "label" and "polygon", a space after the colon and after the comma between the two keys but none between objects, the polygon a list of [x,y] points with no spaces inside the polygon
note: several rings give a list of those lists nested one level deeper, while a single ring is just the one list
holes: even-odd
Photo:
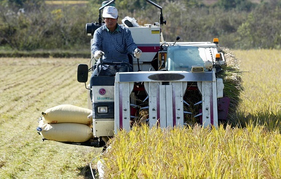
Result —
[{"label": "harvested stubble field in rows left of the harvester", "polygon": [[88,178],[101,149],[42,141],[41,112],[58,104],[87,107],[76,80],[83,58],[0,58],[0,178]]}]

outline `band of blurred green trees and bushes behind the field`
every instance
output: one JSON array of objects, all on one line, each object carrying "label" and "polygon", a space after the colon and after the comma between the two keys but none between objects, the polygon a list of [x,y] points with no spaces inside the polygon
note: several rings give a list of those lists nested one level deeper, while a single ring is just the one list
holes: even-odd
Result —
[{"label": "band of blurred green trees and bushes behind the field", "polygon": [[[85,24],[98,21],[104,0],[78,5],[50,5],[44,0],[0,1],[0,48],[87,49],[91,36]],[[229,48],[281,48],[281,1],[152,0],[163,7],[166,41],[212,41]],[[145,0],[116,0],[119,20],[134,17],[138,24],[159,22],[160,9]],[[35,7],[35,8],[34,8]]]}]

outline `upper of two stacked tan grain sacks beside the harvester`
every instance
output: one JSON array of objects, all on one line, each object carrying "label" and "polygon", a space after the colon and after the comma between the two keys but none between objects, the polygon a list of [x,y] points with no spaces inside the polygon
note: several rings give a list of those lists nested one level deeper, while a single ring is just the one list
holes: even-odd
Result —
[{"label": "upper of two stacked tan grain sacks beside the harvester", "polygon": [[91,109],[78,107],[71,104],[62,104],[42,112],[45,123],[83,123],[90,125],[92,119],[88,115]]}]

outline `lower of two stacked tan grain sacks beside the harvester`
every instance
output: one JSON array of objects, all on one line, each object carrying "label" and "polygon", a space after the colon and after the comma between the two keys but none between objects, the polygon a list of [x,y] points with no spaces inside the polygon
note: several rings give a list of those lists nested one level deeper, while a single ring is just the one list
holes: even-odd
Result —
[{"label": "lower of two stacked tan grain sacks beside the harvester", "polygon": [[45,139],[55,141],[83,142],[93,136],[93,132],[88,125],[81,123],[43,123],[39,126],[40,134]]}]

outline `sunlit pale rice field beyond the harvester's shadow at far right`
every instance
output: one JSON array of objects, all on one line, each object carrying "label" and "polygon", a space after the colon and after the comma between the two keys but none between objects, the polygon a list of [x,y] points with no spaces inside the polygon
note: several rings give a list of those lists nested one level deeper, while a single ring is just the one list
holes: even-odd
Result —
[{"label": "sunlit pale rice field beyond the harvester's shadow at far right", "polygon": [[243,81],[245,92],[242,95],[243,111],[256,113],[264,109],[272,112],[281,107],[281,64],[280,50],[235,51],[241,59],[241,68],[245,71]]}]

